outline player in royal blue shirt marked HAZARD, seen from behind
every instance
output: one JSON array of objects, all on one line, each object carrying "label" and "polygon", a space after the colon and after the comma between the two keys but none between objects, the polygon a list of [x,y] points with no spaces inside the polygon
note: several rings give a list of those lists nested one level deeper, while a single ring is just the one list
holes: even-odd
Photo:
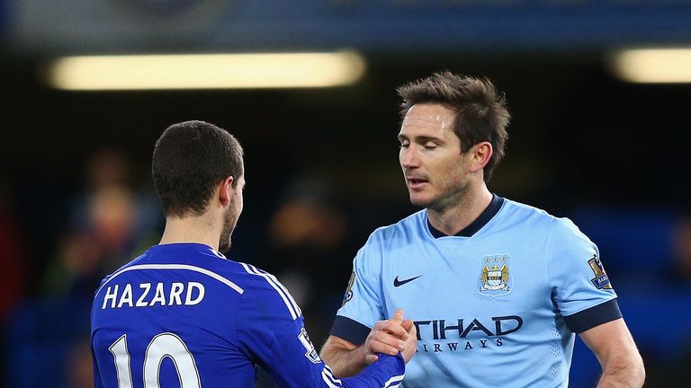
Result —
[{"label": "player in royal blue shirt marked HAZARD, seen from behind", "polygon": [[[166,215],[160,244],[103,279],[94,295],[96,387],[254,387],[256,367],[281,387],[397,387],[412,357],[380,355],[339,379],[319,358],[300,307],[274,276],[226,259],[243,208],[243,153],[202,121],[167,128],[152,172]],[[407,327],[402,312],[391,322]],[[401,334],[401,333],[399,333]]]}]

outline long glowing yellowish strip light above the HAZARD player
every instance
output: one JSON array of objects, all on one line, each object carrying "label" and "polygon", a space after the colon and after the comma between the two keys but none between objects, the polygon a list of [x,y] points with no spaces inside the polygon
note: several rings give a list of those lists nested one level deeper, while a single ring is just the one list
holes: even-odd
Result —
[{"label": "long glowing yellowish strip light above the HAZARD player", "polygon": [[364,71],[361,55],[338,51],[65,57],[46,76],[71,91],[319,88],[354,84]]}]

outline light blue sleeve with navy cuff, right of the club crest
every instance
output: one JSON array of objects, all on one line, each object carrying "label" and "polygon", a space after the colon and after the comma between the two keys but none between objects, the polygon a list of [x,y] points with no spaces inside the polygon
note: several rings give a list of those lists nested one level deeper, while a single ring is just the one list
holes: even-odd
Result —
[{"label": "light blue sleeve with navy cuff, right of the club crest", "polygon": [[549,257],[552,299],[571,331],[621,318],[595,243],[567,218],[554,221]]}]

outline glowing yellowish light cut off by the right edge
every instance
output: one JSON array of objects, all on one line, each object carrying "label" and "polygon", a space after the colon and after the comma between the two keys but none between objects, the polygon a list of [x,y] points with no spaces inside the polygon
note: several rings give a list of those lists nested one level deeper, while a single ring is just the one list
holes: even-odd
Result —
[{"label": "glowing yellowish light cut off by the right edge", "polygon": [[615,75],[637,84],[691,83],[691,48],[636,48],[609,60]]}]

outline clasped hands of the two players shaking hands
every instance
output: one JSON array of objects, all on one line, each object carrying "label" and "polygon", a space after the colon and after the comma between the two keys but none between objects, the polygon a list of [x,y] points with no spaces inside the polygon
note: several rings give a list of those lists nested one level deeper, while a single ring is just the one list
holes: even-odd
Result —
[{"label": "clasped hands of the two players shaking hands", "polygon": [[403,321],[403,310],[398,309],[391,319],[374,324],[372,331],[364,341],[367,363],[377,360],[376,353],[396,356],[399,352],[408,361],[415,355],[417,331],[412,321]]}]

